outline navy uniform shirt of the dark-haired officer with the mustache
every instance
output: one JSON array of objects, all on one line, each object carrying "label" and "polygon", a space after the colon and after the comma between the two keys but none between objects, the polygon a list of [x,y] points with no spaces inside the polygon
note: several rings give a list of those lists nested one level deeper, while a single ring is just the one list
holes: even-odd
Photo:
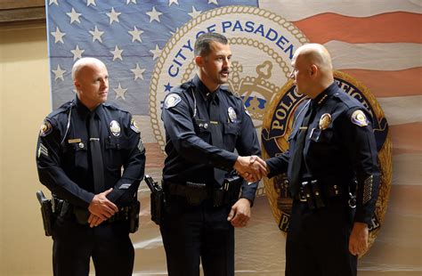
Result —
[{"label": "navy uniform shirt of the dark-haired officer with the mustache", "polygon": [[[162,113],[166,128],[165,181],[214,185],[214,167],[231,172],[239,155],[261,154],[256,129],[241,99],[222,86],[213,93],[196,76],[166,96]],[[220,110],[223,148],[211,144],[209,97],[215,97]],[[244,182],[241,197],[253,202],[256,188],[257,183]]]}]

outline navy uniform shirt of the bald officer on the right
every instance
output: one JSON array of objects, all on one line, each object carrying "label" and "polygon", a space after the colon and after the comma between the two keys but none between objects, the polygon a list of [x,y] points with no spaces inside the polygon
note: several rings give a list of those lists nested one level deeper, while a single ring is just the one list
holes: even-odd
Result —
[{"label": "navy uniform shirt of the bald officer on the right", "polygon": [[[266,161],[270,168],[269,177],[285,172],[290,177],[293,166],[299,166],[289,160],[296,150],[299,128],[309,105],[315,110],[304,140],[303,178],[344,186],[356,180],[354,220],[369,224],[380,182],[372,117],[359,101],[338,88],[336,83],[297,108],[293,130],[288,138],[289,150]],[[343,188],[343,191],[348,191],[348,187]]]}]

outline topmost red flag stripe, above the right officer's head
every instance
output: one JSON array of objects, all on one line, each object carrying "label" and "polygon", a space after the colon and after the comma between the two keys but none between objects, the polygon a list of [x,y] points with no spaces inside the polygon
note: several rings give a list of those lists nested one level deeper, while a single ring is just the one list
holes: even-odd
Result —
[{"label": "topmost red flag stripe, above the right officer's head", "polygon": [[391,12],[366,18],[322,13],[293,23],[313,43],[324,44],[330,40],[348,43],[422,42],[420,33],[412,30],[415,26],[422,26],[422,14],[418,13]]}]

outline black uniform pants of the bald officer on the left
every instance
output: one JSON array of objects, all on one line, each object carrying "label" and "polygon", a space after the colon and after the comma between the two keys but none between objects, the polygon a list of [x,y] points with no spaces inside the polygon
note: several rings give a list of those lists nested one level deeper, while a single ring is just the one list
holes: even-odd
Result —
[{"label": "black uniform pants of the bald officer on the left", "polygon": [[132,275],[134,247],[127,223],[90,228],[78,224],[73,215],[59,217],[53,227],[54,275],[88,275],[90,257],[97,276]]}]

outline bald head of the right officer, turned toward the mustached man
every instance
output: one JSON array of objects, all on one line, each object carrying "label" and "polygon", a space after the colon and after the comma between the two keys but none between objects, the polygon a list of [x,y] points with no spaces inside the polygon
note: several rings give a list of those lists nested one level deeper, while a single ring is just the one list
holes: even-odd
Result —
[{"label": "bald head of the right officer, turned toward the mustached man", "polygon": [[315,98],[334,82],[333,65],[327,49],[319,44],[302,45],[292,59],[291,77],[297,91]]}]

